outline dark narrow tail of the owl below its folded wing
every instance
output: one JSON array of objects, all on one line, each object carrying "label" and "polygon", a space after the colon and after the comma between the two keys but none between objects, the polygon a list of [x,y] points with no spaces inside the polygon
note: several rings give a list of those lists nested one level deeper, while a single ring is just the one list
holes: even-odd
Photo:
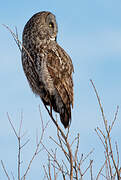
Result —
[{"label": "dark narrow tail of the owl below its folded wing", "polygon": [[64,111],[60,113],[60,120],[65,128],[70,125],[71,122],[71,108],[68,110],[64,108]]}]

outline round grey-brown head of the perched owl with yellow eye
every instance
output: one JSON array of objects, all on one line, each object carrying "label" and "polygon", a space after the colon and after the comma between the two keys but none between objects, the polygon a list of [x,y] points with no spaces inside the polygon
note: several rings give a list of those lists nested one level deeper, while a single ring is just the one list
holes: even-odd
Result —
[{"label": "round grey-brown head of the perched owl with yellow eye", "polygon": [[[31,27],[31,28],[30,28]],[[48,11],[42,11],[33,15],[24,28],[24,34],[27,34],[28,40],[56,40],[58,27],[55,16]]]}]

